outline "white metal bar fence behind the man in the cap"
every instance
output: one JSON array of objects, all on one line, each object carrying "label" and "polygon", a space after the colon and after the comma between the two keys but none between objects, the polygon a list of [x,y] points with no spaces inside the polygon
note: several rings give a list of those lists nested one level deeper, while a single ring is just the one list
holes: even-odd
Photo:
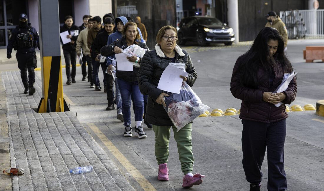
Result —
[{"label": "white metal bar fence behind the man in the cap", "polygon": [[324,9],[280,11],[288,38],[324,38]]}]

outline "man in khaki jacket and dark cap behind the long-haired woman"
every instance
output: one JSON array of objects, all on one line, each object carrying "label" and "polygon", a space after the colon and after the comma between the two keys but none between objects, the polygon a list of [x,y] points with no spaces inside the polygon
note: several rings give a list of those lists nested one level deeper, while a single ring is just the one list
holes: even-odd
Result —
[{"label": "man in khaki jacket and dark cap behind the long-haired woman", "polygon": [[284,50],[287,49],[287,43],[288,43],[288,33],[286,29],[286,25],[284,22],[277,16],[276,12],[270,11],[267,15],[268,23],[265,25],[265,27],[272,27],[279,31],[281,36],[284,38]]}]

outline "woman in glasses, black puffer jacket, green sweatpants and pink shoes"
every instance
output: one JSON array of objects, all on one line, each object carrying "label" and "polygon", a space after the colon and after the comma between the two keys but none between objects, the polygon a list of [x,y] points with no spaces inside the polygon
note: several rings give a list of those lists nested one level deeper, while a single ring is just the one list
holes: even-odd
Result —
[{"label": "woman in glasses, black puffer jacket, green sweatpants and pink shoes", "polygon": [[169,96],[157,88],[160,77],[165,68],[171,62],[185,63],[188,77],[180,76],[189,86],[192,86],[197,78],[197,73],[192,65],[189,54],[177,44],[177,30],[172,26],[162,27],[156,36],[155,50],[147,52],[138,71],[138,85],[144,95],[148,95],[145,121],[153,126],[155,133],[155,156],[159,165],[158,180],[167,181],[168,177],[168,143],[170,128],[172,126],[174,138],[178,144],[181,170],[184,173],[183,187],[199,185],[202,183],[202,175],[192,174],[193,154],[191,143],[191,123],[185,125],[179,132],[171,122],[168,113],[164,110],[164,96]]}]

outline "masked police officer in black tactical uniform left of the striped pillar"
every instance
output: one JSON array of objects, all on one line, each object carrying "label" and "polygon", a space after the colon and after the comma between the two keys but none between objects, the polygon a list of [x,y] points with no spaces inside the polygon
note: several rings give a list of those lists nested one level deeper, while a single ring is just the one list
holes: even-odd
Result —
[{"label": "masked police officer in black tactical uniform left of the striped pillar", "polygon": [[[19,15],[19,25],[11,31],[7,46],[7,58],[11,58],[12,48],[17,50],[16,58],[20,77],[24,84],[24,93],[33,95],[35,93],[35,71],[37,67],[35,48],[40,49],[39,34],[30,26],[25,13]],[[28,70],[28,78],[27,78]]]}]

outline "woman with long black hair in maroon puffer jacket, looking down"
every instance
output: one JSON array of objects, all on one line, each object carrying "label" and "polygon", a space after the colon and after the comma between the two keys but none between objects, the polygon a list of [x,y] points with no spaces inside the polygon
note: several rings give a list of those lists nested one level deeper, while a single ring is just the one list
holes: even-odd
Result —
[{"label": "woman with long black hair in maroon puffer jacket, looking down", "polygon": [[[260,190],[260,168],[267,147],[268,190],[286,190],[284,172],[284,141],[286,118],[284,104],[295,100],[296,77],[287,90],[272,94],[281,84],[284,73],[293,67],[284,54],[284,41],[275,28],[263,28],[248,52],[234,66],[231,92],[242,100],[243,168],[250,190]],[[282,102],[279,107],[275,104]]]}]

